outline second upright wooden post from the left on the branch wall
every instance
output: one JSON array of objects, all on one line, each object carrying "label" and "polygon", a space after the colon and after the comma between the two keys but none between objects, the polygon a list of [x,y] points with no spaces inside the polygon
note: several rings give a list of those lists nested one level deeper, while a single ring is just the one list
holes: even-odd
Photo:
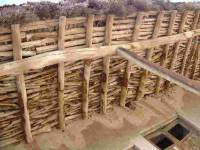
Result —
[{"label": "second upright wooden post from the left on the branch wall", "polygon": [[[58,49],[64,50],[64,38],[65,38],[65,26],[66,26],[66,17],[61,16],[59,18],[59,29],[58,29]],[[64,62],[58,64],[58,97],[59,97],[59,126],[60,129],[64,131],[65,129],[65,112],[64,112]]]}]

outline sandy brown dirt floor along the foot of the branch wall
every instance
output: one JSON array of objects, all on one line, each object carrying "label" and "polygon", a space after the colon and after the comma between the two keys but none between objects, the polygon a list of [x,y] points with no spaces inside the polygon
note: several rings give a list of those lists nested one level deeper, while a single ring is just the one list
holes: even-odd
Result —
[{"label": "sandy brown dirt floor along the foot of the branch wall", "polygon": [[135,105],[135,110],[116,106],[107,115],[96,114],[68,124],[65,132],[55,129],[34,137],[32,144],[20,143],[3,150],[122,150],[131,147],[139,134],[147,134],[178,114],[189,117],[197,128],[200,125],[200,97],[179,87]]}]

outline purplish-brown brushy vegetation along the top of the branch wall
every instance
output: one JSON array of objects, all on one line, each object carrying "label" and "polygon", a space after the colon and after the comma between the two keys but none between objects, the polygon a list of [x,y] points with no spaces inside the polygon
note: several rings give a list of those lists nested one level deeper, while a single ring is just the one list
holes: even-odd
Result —
[{"label": "purplish-brown brushy vegetation along the top of the branch wall", "polygon": [[36,20],[85,16],[87,14],[115,14],[126,16],[136,11],[195,10],[200,3],[171,3],[164,0],[64,0],[59,3],[34,2],[0,7],[0,25],[27,23]]}]

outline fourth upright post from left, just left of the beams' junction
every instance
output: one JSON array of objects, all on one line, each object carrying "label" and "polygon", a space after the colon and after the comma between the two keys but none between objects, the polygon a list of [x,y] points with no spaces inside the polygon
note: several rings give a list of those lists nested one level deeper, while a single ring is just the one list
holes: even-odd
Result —
[{"label": "fourth upright post from left, just left of the beams' junction", "polygon": [[[114,16],[108,15],[106,19],[105,31],[105,44],[111,45],[112,42],[112,29],[113,29]],[[107,97],[108,97],[108,81],[110,70],[110,57],[103,58],[103,77],[102,77],[102,94],[101,94],[101,113],[105,114],[107,110]]]}]

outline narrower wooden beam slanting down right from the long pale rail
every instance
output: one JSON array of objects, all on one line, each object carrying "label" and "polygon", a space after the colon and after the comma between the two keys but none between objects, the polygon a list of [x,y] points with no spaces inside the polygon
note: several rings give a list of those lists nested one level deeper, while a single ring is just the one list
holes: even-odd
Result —
[{"label": "narrower wooden beam slanting down right from the long pale rail", "polygon": [[118,48],[117,54],[122,56],[123,58],[129,60],[130,62],[140,66],[141,68],[146,69],[149,72],[152,72],[158,76],[161,76],[162,78],[164,78],[170,82],[173,82],[190,92],[200,95],[200,85],[198,85],[194,81],[192,81],[178,73],[172,72],[172,71],[170,71],[166,68],[163,68],[157,64],[149,62],[148,60],[138,56],[134,52],[131,52],[124,48]]}]

